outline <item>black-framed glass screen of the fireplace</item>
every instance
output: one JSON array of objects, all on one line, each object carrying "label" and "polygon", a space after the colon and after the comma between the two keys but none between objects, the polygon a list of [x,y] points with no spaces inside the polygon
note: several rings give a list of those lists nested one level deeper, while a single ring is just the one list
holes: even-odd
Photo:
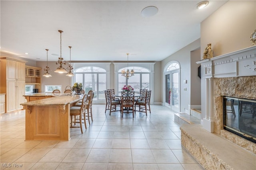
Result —
[{"label": "black-framed glass screen of the fireplace", "polygon": [[224,129],[256,142],[256,100],[223,98]]}]

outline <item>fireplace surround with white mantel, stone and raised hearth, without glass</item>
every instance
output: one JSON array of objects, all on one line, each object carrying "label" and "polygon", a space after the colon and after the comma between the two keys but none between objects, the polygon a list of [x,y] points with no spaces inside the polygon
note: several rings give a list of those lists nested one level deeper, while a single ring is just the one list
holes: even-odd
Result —
[{"label": "fireplace surround with white mantel, stone and raised hearth, without glass", "polygon": [[[200,138],[198,134],[191,131],[193,128],[195,128],[194,130],[199,129],[200,132],[197,133],[205,133],[207,136],[209,133],[209,138],[216,138],[216,140],[220,139],[220,141],[224,143],[225,141],[223,140],[226,140],[227,142],[231,141],[235,145],[248,150],[247,152],[250,152],[252,155],[245,152],[244,156],[248,156],[248,159],[252,158],[252,160],[254,160],[253,163],[255,164],[256,144],[223,129],[223,96],[256,99],[256,46],[213,57],[211,59],[205,59],[197,63],[201,64],[201,74],[204,75],[202,76],[202,79],[205,81],[205,114],[202,114],[205,115],[205,117],[201,120],[202,128],[191,127],[193,125],[181,127],[182,145],[206,169],[234,168],[226,163],[229,162],[228,160],[226,162],[223,160],[223,157],[221,156],[222,152],[221,154],[218,153],[220,150],[223,151],[223,149],[225,150],[229,147],[222,146],[221,148],[218,148],[218,144],[215,145],[215,143],[212,143],[216,149],[212,146],[210,146],[210,148],[212,147],[216,153],[212,152],[204,145],[204,137],[202,137],[202,143],[200,143],[200,139],[196,139],[196,137]],[[203,110],[204,109],[202,109],[202,111]],[[207,131],[208,133],[206,133]],[[211,141],[208,143],[210,142]],[[232,145],[234,146],[234,144]],[[230,149],[231,151],[227,150],[227,152],[231,152],[230,155],[232,156],[232,147]],[[245,150],[240,151],[240,154],[242,154]],[[228,156],[226,155],[224,158],[226,157]],[[255,167],[256,166],[254,166],[254,168]]]}]

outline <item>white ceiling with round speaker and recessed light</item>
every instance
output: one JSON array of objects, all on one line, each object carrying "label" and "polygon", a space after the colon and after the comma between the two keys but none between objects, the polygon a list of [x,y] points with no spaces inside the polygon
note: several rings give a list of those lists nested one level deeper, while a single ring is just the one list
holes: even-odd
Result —
[{"label": "white ceiling with round speaker and recessed light", "polygon": [[[227,1],[1,0],[1,51],[34,61],[161,61],[200,38],[200,22]],[[142,9],[158,13],[143,17]],[[25,55],[24,53],[29,53]],[[133,55],[132,55],[133,54]],[[135,55],[134,55],[135,54]]]}]

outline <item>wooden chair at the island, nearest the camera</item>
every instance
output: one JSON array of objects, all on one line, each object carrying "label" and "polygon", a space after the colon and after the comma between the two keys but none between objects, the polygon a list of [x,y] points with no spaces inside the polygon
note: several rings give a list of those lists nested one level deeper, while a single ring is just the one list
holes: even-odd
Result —
[{"label": "wooden chair at the island, nearest the camera", "polygon": [[[87,101],[88,101],[88,95],[85,94],[82,99],[81,107],[80,106],[70,107],[70,119],[71,119],[70,128],[80,127],[82,133],[83,133],[82,116],[85,117]],[[73,116],[74,116],[74,121],[73,121]],[[76,116],[79,116],[79,118],[77,118]],[[74,123],[74,125],[73,125],[73,123]],[[75,126],[76,123],[80,123],[80,126]],[[85,126],[85,129],[87,129],[85,119],[84,119],[84,126]]]}]

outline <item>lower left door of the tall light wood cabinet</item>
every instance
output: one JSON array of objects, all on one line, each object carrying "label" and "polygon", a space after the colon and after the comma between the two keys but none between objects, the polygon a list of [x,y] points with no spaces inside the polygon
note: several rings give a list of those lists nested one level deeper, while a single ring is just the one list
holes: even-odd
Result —
[{"label": "lower left door of the tall light wood cabinet", "polygon": [[6,112],[16,110],[16,80],[6,81]]}]

